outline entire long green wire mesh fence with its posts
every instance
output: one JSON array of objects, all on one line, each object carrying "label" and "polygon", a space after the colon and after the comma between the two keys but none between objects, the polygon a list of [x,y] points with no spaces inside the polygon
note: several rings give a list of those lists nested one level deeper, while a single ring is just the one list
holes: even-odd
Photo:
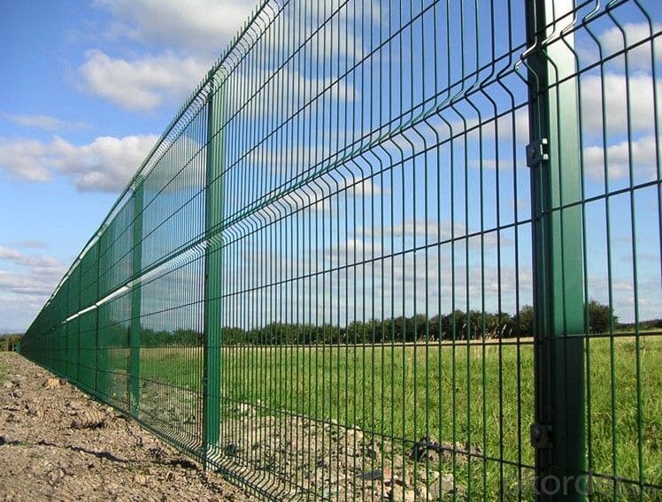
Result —
[{"label": "entire long green wire mesh fence with its posts", "polygon": [[267,1],[21,353],[265,498],[662,498],[657,1]]}]

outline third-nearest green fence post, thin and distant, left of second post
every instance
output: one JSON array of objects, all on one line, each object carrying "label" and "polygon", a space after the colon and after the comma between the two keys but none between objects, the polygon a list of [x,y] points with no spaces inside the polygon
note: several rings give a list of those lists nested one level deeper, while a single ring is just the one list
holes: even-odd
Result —
[{"label": "third-nearest green fence post, thin and distant, left of second post", "polygon": [[141,286],[136,279],[140,276],[142,270],[142,206],[143,206],[143,187],[142,179],[136,180],[134,189],[134,224],[133,224],[133,277],[134,283],[131,290],[131,332],[129,335],[129,346],[131,347],[131,389],[129,392],[131,399],[131,414],[138,416],[140,407],[140,311],[141,311]]}]

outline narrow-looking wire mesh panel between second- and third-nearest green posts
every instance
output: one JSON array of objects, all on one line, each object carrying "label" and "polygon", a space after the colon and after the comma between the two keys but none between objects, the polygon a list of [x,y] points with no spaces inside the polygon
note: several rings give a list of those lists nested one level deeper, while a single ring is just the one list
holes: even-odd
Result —
[{"label": "narrow-looking wire mesh panel between second- and third-nearest green posts", "polygon": [[[182,111],[142,181],[140,310],[132,372],[142,422],[196,455],[202,449],[205,90]],[[134,316],[134,323],[136,324]]]}]

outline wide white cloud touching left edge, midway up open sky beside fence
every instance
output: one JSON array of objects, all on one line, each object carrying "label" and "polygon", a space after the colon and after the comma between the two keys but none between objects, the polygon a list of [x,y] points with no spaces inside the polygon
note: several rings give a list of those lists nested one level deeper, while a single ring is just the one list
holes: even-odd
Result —
[{"label": "wide white cloud touching left edge, midway up open sky beside fence", "polygon": [[102,136],[77,146],[57,136],[50,142],[0,138],[0,169],[31,181],[60,174],[71,177],[81,191],[116,192],[157,140],[155,135]]}]

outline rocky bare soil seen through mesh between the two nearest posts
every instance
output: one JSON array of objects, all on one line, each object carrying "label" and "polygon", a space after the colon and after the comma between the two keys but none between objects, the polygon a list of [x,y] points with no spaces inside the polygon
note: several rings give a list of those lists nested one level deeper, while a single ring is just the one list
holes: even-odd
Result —
[{"label": "rocky bare soil seen through mesh between the two nearest posts", "polygon": [[[402,455],[387,438],[370,437],[363,430],[337,422],[318,422],[300,416],[247,416],[226,422],[235,441],[224,443],[222,463],[228,471],[273,494],[276,499],[303,501],[463,500],[466,490],[453,475],[435,470],[440,456],[451,456],[452,445],[421,438]],[[458,462],[471,452],[454,448]]]}]

